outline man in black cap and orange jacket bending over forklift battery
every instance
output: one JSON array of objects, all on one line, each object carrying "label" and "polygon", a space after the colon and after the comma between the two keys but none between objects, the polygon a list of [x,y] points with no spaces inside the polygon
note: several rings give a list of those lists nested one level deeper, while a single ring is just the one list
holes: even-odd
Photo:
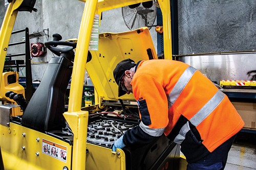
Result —
[{"label": "man in black cap and orange jacket bending over forklift battery", "polygon": [[180,144],[187,169],[224,169],[244,122],[205,75],[180,61],[131,59],[119,62],[113,74],[118,96],[133,93],[141,118],[139,126],[115,141],[113,152],[164,134]]}]

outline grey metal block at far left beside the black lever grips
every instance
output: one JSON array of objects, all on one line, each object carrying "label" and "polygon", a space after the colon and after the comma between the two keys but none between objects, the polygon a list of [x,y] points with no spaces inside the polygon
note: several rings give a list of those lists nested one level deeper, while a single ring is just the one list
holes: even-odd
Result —
[{"label": "grey metal block at far left beside the black lever grips", "polygon": [[12,108],[19,107],[19,105],[5,104],[0,105],[0,124],[9,127],[10,126],[10,115]]}]

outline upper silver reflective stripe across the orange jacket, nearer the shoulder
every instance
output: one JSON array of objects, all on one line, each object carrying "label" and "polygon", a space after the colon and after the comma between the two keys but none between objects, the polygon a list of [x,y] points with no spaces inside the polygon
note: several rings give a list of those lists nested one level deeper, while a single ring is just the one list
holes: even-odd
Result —
[{"label": "upper silver reflective stripe across the orange jacket, nearer the shoulder", "polygon": [[185,71],[183,72],[183,74],[181,75],[181,77],[179,78],[177,83],[175,84],[173,90],[167,96],[167,98],[168,98],[168,109],[170,107],[172,107],[174,102],[178,99],[180,93],[185,88],[186,84],[191,79],[191,77],[194,75],[196,70],[197,70],[196,68],[191,67],[191,66],[189,66],[185,69]]}]

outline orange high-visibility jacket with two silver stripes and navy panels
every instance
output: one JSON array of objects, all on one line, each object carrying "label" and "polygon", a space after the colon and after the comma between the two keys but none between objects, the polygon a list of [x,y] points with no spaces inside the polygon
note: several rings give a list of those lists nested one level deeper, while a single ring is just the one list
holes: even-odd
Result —
[{"label": "orange high-visibility jacket with two silver stripes and navy panels", "polygon": [[[182,151],[186,157],[198,144],[203,151],[214,151],[244,126],[227,96],[199,70],[183,62],[140,61],[131,85],[142,120],[139,127],[151,136],[164,133],[181,143],[181,151],[183,143],[191,144],[191,151]],[[190,140],[188,131],[198,140],[195,148],[194,143],[185,142]]]}]

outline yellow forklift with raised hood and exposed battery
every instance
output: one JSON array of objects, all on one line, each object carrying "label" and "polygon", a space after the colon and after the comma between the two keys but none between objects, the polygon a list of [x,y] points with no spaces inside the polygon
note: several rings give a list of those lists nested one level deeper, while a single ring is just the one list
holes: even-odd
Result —
[{"label": "yellow forklift with raised hood and exposed battery", "polygon": [[[96,40],[98,49],[90,50],[93,23],[100,24],[103,11],[147,1],[82,1],[78,38],[61,41],[61,35],[54,34],[52,41],[45,43],[56,57],[50,60],[29,103],[18,79],[9,82],[8,75],[0,77],[1,99],[9,101],[0,105],[0,169],[179,169],[179,145],[165,136],[137,149],[112,152],[115,140],[140,123],[133,95],[118,97],[113,69],[125,58],[135,62],[158,59],[148,28],[101,33]],[[36,0],[8,2],[0,32],[1,71],[18,11],[36,11]],[[163,16],[164,59],[172,59],[170,2],[158,0],[156,4]],[[86,70],[95,87],[95,105],[81,108]],[[21,111],[14,114],[17,107]]]}]

